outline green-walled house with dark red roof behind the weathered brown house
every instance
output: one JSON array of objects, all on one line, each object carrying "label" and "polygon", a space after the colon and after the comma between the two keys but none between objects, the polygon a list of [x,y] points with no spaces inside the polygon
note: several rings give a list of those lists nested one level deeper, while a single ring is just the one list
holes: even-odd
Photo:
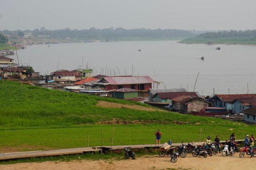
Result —
[{"label": "green-walled house with dark red roof behind the weathered brown house", "polygon": [[152,98],[154,102],[172,102],[172,99],[178,96],[201,97],[198,92],[163,92],[157,93]]}]

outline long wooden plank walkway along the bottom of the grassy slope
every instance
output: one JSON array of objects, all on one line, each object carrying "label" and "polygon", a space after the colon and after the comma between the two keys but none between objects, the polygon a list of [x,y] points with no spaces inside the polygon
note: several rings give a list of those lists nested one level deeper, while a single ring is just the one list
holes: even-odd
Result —
[{"label": "long wooden plank walkway along the bottom of the grassy slope", "polygon": [[[236,140],[236,142],[244,142],[244,140]],[[193,142],[201,144],[202,142]],[[221,143],[225,143],[225,141],[221,141]],[[187,142],[184,142],[187,144]],[[172,146],[180,146],[181,143],[173,143]],[[161,146],[161,145],[160,145]],[[113,146],[112,150],[123,150],[125,147],[130,147],[135,150],[142,149],[158,149],[160,146],[156,146],[155,144],[137,144],[137,145],[118,145]],[[108,151],[111,149],[111,146],[102,146],[102,151]],[[19,159],[19,158],[31,158],[31,157],[41,157],[41,156],[59,156],[59,155],[72,155],[86,152],[99,152],[101,151],[101,147],[80,147],[80,148],[70,148],[70,149],[58,149],[58,150],[36,150],[29,152],[15,152],[15,153],[0,153],[0,160],[8,160],[8,159]]]}]

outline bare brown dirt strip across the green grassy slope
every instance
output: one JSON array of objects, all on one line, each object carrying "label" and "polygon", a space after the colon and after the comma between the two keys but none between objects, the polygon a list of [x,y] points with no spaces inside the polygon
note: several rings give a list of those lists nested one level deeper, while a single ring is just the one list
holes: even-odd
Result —
[{"label": "bare brown dirt strip across the green grassy slope", "polygon": [[111,103],[111,102],[105,102],[105,101],[99,101],[99,103],[96,105],[105,107],[105,108],[129,108],[129,109],[137,109],[142,111],[165,111],[161,109],[147,108],[140,105],[126,105],[126,104]]}]

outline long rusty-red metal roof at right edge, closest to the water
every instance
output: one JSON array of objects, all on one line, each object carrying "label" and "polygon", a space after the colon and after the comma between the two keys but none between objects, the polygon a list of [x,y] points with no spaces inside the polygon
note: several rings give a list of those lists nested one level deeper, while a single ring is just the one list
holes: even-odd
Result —
[{"label": "long rusty-red metal roof at right edge, closest to the water", "polygon": [[235,99],[256,99],[256,94],[216,94],[223,102],[233,102]]}]

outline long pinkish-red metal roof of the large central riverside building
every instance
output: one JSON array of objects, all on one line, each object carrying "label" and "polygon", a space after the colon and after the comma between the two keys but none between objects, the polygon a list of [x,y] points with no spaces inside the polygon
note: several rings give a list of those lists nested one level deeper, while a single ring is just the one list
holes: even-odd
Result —
[{"label": "long pinkish-red metal roof of the large central riverside building", "polygon": [[111,85],[131,85],[131,84],[147,84],[155,82],[149,76],[136,77],[104,77]]}]

